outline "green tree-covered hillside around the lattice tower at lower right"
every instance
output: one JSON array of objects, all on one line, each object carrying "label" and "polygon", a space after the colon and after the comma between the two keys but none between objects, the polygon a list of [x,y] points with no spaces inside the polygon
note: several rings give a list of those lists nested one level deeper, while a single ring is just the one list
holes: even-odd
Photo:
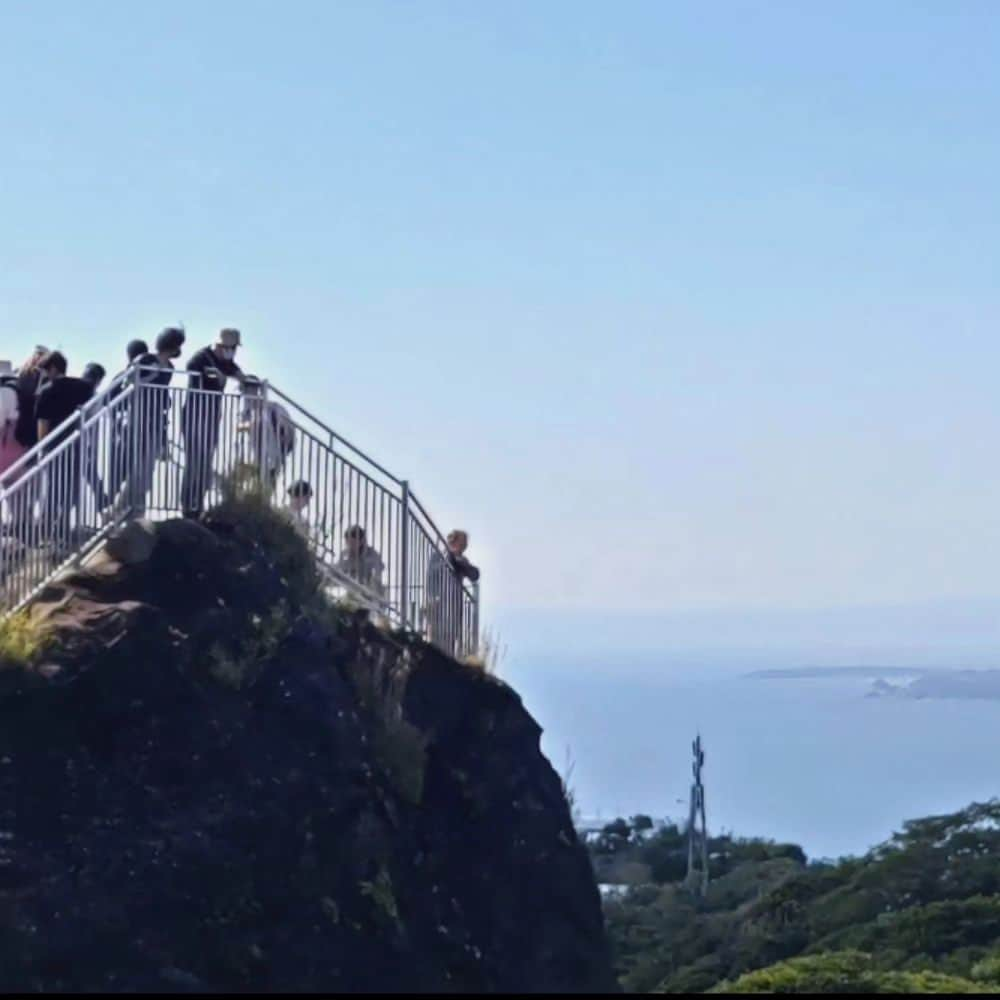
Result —
[{"label": "green tree-covered hillside around the lattice tower at lower right", "polygon": [[619,820],[590,849],[601,881],[634,883],[605,901],[629,991],[1000,993],[1000,802],[836,863],[713,838],[704,900],[676,826]]}]

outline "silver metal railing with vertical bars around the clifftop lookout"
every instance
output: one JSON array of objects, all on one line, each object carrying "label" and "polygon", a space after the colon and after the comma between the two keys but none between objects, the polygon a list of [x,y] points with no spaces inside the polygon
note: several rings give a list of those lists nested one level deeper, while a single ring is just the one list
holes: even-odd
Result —
[{"label": "silver metal railing with vertical bars around the clifftop lookout", "polygon": [[249,467],[308,540],[334,595],[452,655],[477,651],[478,585],[454,572],[405,480],[267,383],[220,393],[172,386],[173,374],[122,373],[0,476],[0,613],[129,518],[197,515]]}]

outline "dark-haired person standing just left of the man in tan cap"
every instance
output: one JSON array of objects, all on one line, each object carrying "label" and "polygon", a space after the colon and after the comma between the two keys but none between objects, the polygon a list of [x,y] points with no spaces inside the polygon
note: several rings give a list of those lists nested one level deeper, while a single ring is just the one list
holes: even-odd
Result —
[{"label": "dark-haired person standing just left of the man in tan cap", "polygon": [[127,503],[136,517],[146,513],[146,496],[153,485],[156,463],[167,444],[170,414],[167,386],[184,340],[182,329],[168,326],[156,338],[156,353],[142,354],[134,362],[136,397],[129,411],[123,451],[128,474],[119,503]]}]

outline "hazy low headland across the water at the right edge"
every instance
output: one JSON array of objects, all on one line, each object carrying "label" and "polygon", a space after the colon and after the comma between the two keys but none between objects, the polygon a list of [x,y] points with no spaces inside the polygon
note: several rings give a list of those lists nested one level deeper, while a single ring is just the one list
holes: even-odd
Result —
[{"label": "hazy low headland across the water at the right edge", "polygon": [[[1000,701],[1000,670],[958,670],[919,667],[800,667],[792,670],[755,670],[754,680],[809,680],[817,678],[872,678],[869,698],[958,698]],[[890,684],[887,677],[904,683]]]}]

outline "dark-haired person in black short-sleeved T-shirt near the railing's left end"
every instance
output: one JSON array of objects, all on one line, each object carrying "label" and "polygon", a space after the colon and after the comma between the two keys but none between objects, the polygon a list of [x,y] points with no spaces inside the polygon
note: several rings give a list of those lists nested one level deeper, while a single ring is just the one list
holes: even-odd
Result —
[{"label": "dark-haired person in black short-sleeved T-shirt near the railing's left end", "polygon": [[[66,359],[58,351],[46,354],[38,368],[49,383],[38,393],[35,419],[38,440],[46,454],[51,454],[73,433],[72,418],[93,395],[94,387],[80,378],[66,374]],[[80,439],[63,448],[49,468],[46,481],[45,525],[52,539],[68,543],[73,509],[80,503]]]}]

